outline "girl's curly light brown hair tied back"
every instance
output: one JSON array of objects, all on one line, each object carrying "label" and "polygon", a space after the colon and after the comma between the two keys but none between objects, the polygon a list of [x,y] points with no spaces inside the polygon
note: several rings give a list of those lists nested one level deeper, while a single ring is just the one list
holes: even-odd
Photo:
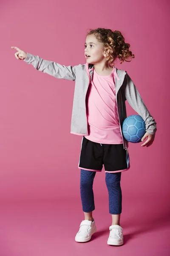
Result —
[{"label": "girl's curly light brown hair tied back", "polygon": [[125,43],[125,38],[120,31],[111,29],[90,29],[86,36],[95,35],[96,39],[103,43],[106,59],[109,66],[114,66],[114,61],[119,58],[122,64],[128,59],[135,58],[135,55],[129,50],[130,44]]}]

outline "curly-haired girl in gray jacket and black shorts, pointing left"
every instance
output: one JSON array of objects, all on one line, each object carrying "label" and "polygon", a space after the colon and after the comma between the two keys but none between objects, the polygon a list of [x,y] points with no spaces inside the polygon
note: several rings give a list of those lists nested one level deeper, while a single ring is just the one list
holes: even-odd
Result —
[{"label": "curly-haired girl in gray jacket and black shorts, pointing left", "polygon": [[114,66],[117,58],[134,58],[130,44],[119,31],[90,30],[85,41],[86,64],[64,66],[26,53],[17,47],[15,57],[32,64],[37,70],[59,79],[75,81],[71,133],[82,135],[78,168],[80,169],[80,195],[85,219],[75,237],[77,242],[91,239],[96,232],[92,216],[95,209],[93,181],[96,172],[105,166],[105,181],[109,194],[109,213],[112,224],[108,244],[123,244],[120,226],[122,212],[121,174],[130,168],[128,141],[122,135],[122,123],[127,117],[125,101],[145,121],[147,138],[141,146],[150,146],[156,133],[156,122],[147,110],[136,86],[125,70]]}]

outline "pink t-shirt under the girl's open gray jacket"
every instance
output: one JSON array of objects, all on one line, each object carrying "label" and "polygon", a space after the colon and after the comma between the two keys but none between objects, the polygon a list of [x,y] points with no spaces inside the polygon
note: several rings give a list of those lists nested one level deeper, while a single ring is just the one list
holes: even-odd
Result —
[{"label": "pink t-shirt under the girl's open gray jacket", "polygon": [[100,76],[94,70],[86,95],[88,136],[86,139],[103,144],[122,144],[116,107],[113,67],[110,76]]}]

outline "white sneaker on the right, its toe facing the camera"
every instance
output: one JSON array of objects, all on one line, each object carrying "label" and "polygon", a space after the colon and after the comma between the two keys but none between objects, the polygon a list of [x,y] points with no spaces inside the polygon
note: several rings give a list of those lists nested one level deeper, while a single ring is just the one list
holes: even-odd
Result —
[{"label": "white sneaker on the right, its toe facing the camera", "polygon": [[123,229],[119,225],[111,225],[109,227],[110,235],[108,238],[109,245],[122,245],[123,244]]}]

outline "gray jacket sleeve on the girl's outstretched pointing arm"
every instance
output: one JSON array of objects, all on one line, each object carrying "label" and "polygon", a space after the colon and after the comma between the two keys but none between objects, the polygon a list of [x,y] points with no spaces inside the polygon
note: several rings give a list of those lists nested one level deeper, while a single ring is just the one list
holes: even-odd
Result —
[{"label": "gray jacket sleeve on the girl's outstretched pointing arm", "polygon": [[54,61],[46,61],[39,56],[27,53],[26,63],[32,64],[36,70],[47,73],[48,75],[54,76],[60,79],[76,80],[76,67],[65,66]]}]

